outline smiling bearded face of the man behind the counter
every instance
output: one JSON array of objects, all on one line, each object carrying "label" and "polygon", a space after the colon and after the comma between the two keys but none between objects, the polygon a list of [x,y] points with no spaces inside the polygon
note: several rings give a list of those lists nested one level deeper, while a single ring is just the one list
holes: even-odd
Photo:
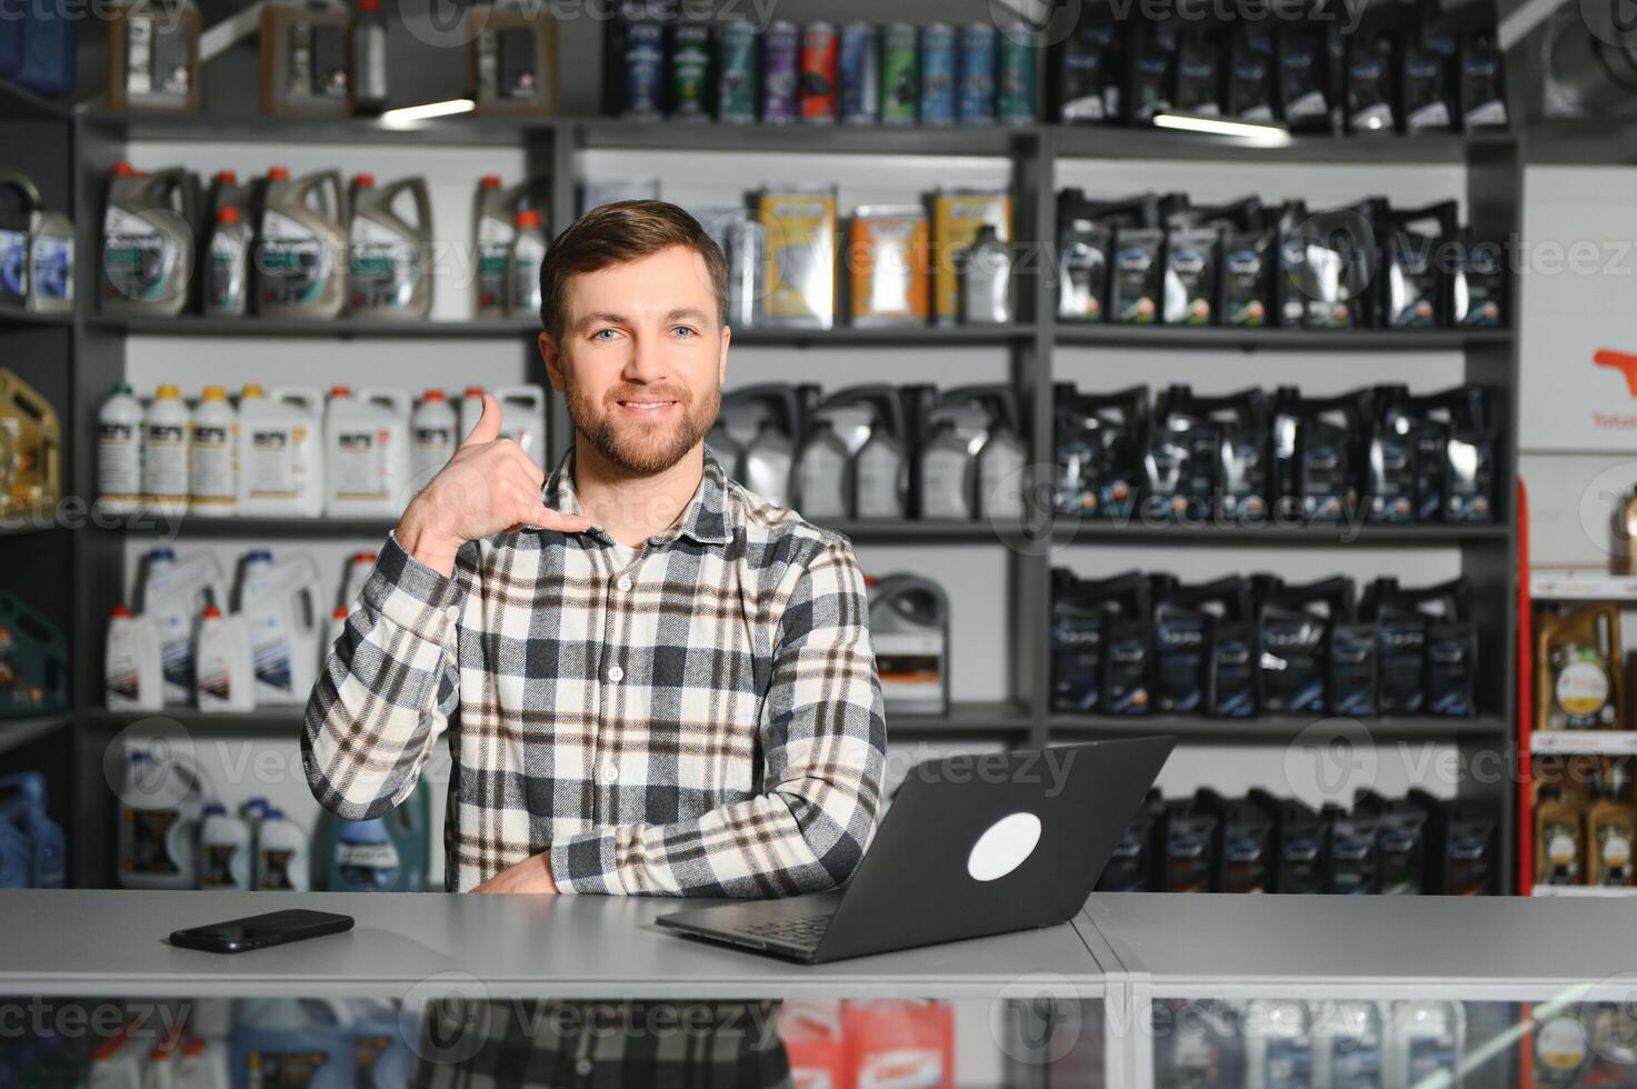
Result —
[{"label": "smiling bearded face of the man behind the counter", "polygon": [[563,341],[540,352],[568,418],[614,465],[653,475],[704,441],[722,406],[728,331],[704,257],[671,246],[570,277]]}]

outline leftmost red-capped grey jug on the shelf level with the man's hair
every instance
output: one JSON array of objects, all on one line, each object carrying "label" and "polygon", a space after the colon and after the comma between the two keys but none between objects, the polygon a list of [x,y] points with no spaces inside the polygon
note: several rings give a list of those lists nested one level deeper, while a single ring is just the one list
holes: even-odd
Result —
[{"label": "leftmost red-capped grey jug on the shelf level with the man's hair", "polygon": [[183,167],[147,174],[118,162],[103,215],[105,314],[175,316],[193,282],[200,182]]}]

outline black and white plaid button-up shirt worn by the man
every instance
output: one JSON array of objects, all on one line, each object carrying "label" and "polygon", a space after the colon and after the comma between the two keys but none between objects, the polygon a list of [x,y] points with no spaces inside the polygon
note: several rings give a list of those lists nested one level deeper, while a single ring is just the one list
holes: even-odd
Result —
[{"label": "black and white plaid button-up shirt worn by the man", "polygon": [[[581,513],[571,450],[543,498]],[[547,850],[563,892],[843,884],[886,763],[851,544],[706,449],[678,522],[625,567],[612,545],[601,527],[499,534],[445,578],[388,537],[308,701],[313,794],[378,817],[447,734],[450,891]]]}]

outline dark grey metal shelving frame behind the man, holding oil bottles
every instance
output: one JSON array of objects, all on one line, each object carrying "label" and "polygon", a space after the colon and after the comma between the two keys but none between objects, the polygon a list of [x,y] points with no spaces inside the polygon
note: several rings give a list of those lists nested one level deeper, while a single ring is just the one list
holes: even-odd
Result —
[{"label": "dark grey metal shelving frame behind the man, holding oil bottles", "polygon": [[[578,62],[578,57],[576,57]],[[1041,79],[1044,74],[1041,72]],[[252,103],[216,105],[224,110],[254,108]],[[13,116],[20,118],[13,121]],[[1313,164],[1403,164],[1463,167],[1468,219],[1485,234],[1508,236],[1517,229],[1521,215],[1521,142],[1513,136],[1481,138],[1383,138],[1383,139],[1295,139],[1285,147],[1257,147],[1224,138],[1185,133],[1141,131],[1128,128],[1069,128],[1059,124],[967,126],[967,128],[859,128],[859,126],[768,126],[768,124],[674,124],[640,123],[602,116],[563,118],[480,118],[457,116],[391,126],[378,120],[273,120],[260,116],[164,116],[113,115],[105,111],[70,113],[51,103],[25,103],[0,121],[0,142],[10,139],[15,124],[52,126],[59,133],[61,165],[43,182],[54,192],[72,193],[72,215],[79,224],[82,255],[77,291],[82,311],[72,319],[39,319],[34,316],[0,316],[0,344],[46,337],[56,347],[38,352],[51,359],[49,375],[41,386],[59,406],[65,421],[65,459],[72,495],[95,495],[93,419],[110,383],[126,373],[126,344],[133,337],[303,337],[309,341],[347,339],[514,339],[522,360],[530,359],[537,324],[516,321],[268,321],[216,319],[182,316],[170,319],[110,318],[97,314],[95,254],[101,223],[105,180],[113,164],[126,157],[131,144],[180,142],[200,144],[200,156],[211,142],[246,141],[268,146],[306,144],[336,146],[413,146],[427,156],[439,149],[506,147],[525,152],[527,170],[558,178],[552,195],[552,223],[566,224],[576,211],[573,185],[576,156],[584,151],[674,151],[719,157],[743,170],[750,156],[828,154],[828,156],[953,156],[1002,157],[1010,162],[1015,237],[1020,244],[1046,242],[1056,237],[1056,167],[1074,159],[1118,160],[1188,160],[1224,164],[1277,164],[1300,169]],[[33,133],[33,128],[28,129]],[[750,175],[746,174],[746,178]],[[928,178],[935,182],[935,178]],[[1053,460],[1053,382],[1058,347],[1177,350],[1200,352],[1301,352],[1315,357],[1315,367],[1326,364],[1328,352],[1391,354],[1403,350],[1450,352],[1463,360],[1465,380],[1490,388],[1496,404],[1511,424],[1498,452],[1501,465],[1498,495],[1514,488],[1514,436],[1517,357],[1511,329],[1495,331],[1354,331],[1321,332],[1292,329],[1188,329],[1067,324],[1054,319],[1054,295],[1049,277],[1038,269],[1020,269],[1015,277],[1017,323],[1008,326],[913,328],[913,329],[735,329],[733,347],[815,347],[833,350],[869,349],[941,349],[992,347],[1005,352],[1007,373],[1020,393],[1023,424],[1031,444],[1031,460]],[[33,341],[31,341],[33,342]],[[31,377],[31,380],[34,380]],[[1082,383],[1084,373],[1077,373]],[[1149,383],[1166,380],[1162,372],[1148,373]],[[1102,377],[1095,378],[1102,382]],[[1130,373],[1108,373],[1107,388],[1131,382]],[[1369,382],[1359,375],[1360,385]],[[560,400],[552,408],[553,457],[561,450],[566,414]],[[1383,740],[1442,740],[1460,747],[1465,755],[1480,748],[1509,745],[1508,730],[1514,716],[1514,663],[1511,647],[1516,611],[1508,593],[1516,529],[1509,504],[1493,526],[1170,526],[1058,522],[1035,532],[1000,534],[987,522],[892,522],[835,526],[859,542],[899,545],[1000,545],[1008,549],[1005,594],[1008,624],[1005,630],[987,632],[997,652],[1007,655],[1008,691],[1000,701],[956,703],[945,716],[894,716],[889,729],[905,737],[1002,739],[1013,743],[1049,743],[1080,740],[1094,735],[1128,735],[1138,732],[1175,732],[1185,742],[1198,743],[1269,743],[1277,745],[1300,735],[1310,719],[1257,719],[1218,722],[1180,716],[1146,719],[1087,719],[1051,711],[1051,567],[1061,549],[1098,549],[1143,545],[1180,547],[1295,547],[1337,549],[1339,570],[1347,567],[1346,545],[1391,547],[1400,550],[1455,550],[1460,568],[1473,581],[1483,609],[1485,632],[1481,660],[1485,668],[1485,706],[1475,719],[1398,719],[1367,722],[1373,737]],[[187,519],[180,535],[187,539],[354,539],[380,537],[390,527],[386,519]],[[51,552],[57,568],[49,578],[61,594],[57,616],[72,630],[74,653],[74,735],[77,737],[79,781],[83,791],[100,791],[101,748],[115,730],[142,716],[111,714],[101,707],[101,635],[106,606],[124,593],[124,547],[128,540],[151,539],[167,532],[165,522],[93,524],[64,537],[41,537],[64,531],[0,532],[0,558],[5,550]],[[61,540],[62,549],[38,549],[39,540]],[[1156,560],[1162,563],[1162,560]],[[959,616],[956,617],[956,639]],[[187,709],[167,709],[160,717],[180,722],[188,730],[211,735],[278,735],[293,734],[298,709],[270,709],[246,716],[201,716]],[[1465,789],[1465,786],[1463,786]],[[1480,788],[1491,789],[1491,788]],[[1486,794],[1504,806],[1506,835],[1511,837],[1513,801],[1499,793]],[[106,802],[101,802],[105,806]],[[92,806],[98,811],[100,806]],[[87,820],[87,824],[92,824]],[[90,858],[92,848],[105,840],[106,824],[82,829],[75,842],[75,878],[95,883],[101,871]],[[1508,888],[1513,874],[1504,876]]]}]

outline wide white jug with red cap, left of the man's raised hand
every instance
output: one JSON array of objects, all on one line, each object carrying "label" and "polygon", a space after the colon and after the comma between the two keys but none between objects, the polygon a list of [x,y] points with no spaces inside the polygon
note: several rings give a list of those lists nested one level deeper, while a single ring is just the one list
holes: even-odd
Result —
[{"label": "wide white jug with red cap, left of the man's raised hand", "polygon": [[324,513],[395,516],[409,501],[408,390],[334,386],[324,413]]}]

